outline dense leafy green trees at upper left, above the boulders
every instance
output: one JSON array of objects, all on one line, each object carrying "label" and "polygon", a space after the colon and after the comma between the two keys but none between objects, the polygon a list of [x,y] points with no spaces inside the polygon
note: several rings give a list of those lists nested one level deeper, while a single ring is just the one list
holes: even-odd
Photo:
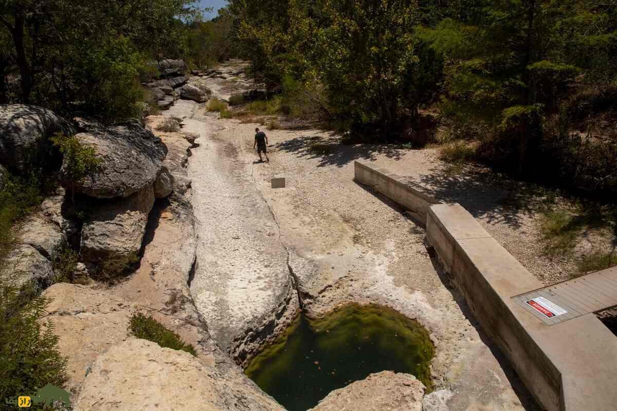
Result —
[{"label": "dense leafy green trees at upper left, above the boulders", "polygon": [[[6,0],[0,29],[11,39],[10,60],[19,72],[21,100],[64,110],[85,101],[89,108],[91,103],[102,104],[107,113],[122,113],[105,105],[114,93],[125,90],[125,102],[140,97],[126,81],[137,76],[146,59],[181,54],[181,20],[199,15],[191,3]],[[126,111],[131,112],[130,107]]]}]

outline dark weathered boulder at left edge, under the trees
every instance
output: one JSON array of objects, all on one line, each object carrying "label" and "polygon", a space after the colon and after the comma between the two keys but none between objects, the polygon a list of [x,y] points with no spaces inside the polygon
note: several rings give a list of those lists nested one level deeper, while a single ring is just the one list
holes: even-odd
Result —
[{"label": "dark weathered boulder at left edge, under the trees", "polygon": [[73,134],[72,126],[48,108],[36,105],[0,105],[0,163],[25,174],[49,161],[49,137]]}]

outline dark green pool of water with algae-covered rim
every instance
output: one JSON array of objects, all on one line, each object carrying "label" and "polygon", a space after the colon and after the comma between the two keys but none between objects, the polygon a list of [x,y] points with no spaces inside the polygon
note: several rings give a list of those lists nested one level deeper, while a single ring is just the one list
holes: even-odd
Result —
[{"label": "dark green pool of water with algae-covered rim", "polygon": [[415,375],[431,389],[433,354],[418,322],[386,307],[350,304],[323,320],[300,315],[245,373],[289,411],[305,411],[333,389],[384,370]]}]

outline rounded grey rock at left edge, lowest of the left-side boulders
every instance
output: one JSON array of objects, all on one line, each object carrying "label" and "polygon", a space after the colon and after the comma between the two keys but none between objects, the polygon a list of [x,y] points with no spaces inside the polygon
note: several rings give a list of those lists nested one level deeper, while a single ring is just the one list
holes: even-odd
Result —
[{"label": "rounded grey rock at left edge, lowest of the left-side boulders", "polygon": [[20,244],[7,256],[0,275],[13,279],[17,287],[32,281],[36,290],[44,290],[51,284],[54,271],[51,262],[36,248]]}]

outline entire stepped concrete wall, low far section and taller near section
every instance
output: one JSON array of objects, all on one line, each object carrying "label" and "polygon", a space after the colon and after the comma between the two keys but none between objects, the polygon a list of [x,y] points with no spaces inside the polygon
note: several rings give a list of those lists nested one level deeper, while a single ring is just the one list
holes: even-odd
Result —
[{"label": "entire stepped concrete wall, low far section and taller near section", "polygon": [[545,324],[512,299],[542,284],[462,206],[431,203],[400,176],[371,165],[357,161],[355,171],[356,181],[379,182],[377,190],[391,200],[426,210],[421,221],[428,243],[484,331],[545,409],[616,409],[617,338],[594,314]]}]

